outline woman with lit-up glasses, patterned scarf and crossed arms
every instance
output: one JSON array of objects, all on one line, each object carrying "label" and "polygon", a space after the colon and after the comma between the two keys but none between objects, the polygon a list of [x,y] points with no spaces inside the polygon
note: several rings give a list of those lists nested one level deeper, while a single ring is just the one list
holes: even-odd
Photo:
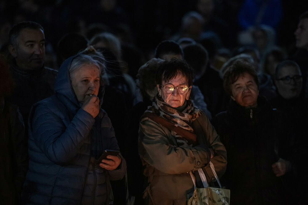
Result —
[{"label": "woman with lit-up glasses, patterned scarf and crossed arms", "polygon": [[225,147],[189,98],[193,77],[186,62],[173,59],[156,72],[158,94],[141,117],[138,140],[146,204],[186,204],[186,195],[194,191],[190,171],[210,161],[219,177],[225,172]]}]

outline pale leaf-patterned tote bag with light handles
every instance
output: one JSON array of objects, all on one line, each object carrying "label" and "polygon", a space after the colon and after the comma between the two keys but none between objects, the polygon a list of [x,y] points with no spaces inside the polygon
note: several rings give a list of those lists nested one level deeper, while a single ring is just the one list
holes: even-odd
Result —
[{"label": "pale leaf-patterned tote bag with light handles", "polygon": [[208,187],[208,183],[202,169],[199,169],[198,172],[205,188],[196,188],[195,176],[192,174],[192,172],[190,172],[193,183],[195,185],[195,190],[186,196],[188,205],[229,205],[230,190],[221,188],[221,184],[212,162],[210,162],[210,167],[220,188]]}]

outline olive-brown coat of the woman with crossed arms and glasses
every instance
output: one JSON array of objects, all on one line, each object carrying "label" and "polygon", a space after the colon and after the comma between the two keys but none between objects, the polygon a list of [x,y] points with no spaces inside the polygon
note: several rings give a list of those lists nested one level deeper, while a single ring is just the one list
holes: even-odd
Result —
[{"label": "olive-brown coat of the woman with crossed arms and glasses", "polygon": [[[209,160],[217,175],[224,174],[227,165],[225,146],[207,116],[190,121],[198,144],[179,147],[173,131],[145,117],[140,121],[138,148],[148,186],[144,192],[146,204],[186,204],[186,195],[194,190],[190,171],[205,167]],[[215,152],[211,158],[209,148]]]}]

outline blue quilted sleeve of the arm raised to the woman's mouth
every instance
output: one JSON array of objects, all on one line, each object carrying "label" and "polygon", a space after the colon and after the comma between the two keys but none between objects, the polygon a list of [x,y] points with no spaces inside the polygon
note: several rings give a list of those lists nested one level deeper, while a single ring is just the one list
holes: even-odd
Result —
[{"label": "blue quilted sleeve of the arm raised to the woman's mouth", "polygon": [[32,120],[32,136],[47,158],[61,165],[77,154],[94,121],[91,114],[79,109],[71,123],[65,126],[58,115],[39,104]]}]

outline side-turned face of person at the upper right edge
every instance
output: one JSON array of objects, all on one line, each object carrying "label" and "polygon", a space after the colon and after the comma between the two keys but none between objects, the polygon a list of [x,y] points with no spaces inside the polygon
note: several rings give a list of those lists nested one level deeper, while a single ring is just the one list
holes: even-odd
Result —
[{"label": "side-turned face of person at the upper right edge", "polygon": [[308,18],[303,18],[298,22],[294,35],[296,47],[308,50]]}]

